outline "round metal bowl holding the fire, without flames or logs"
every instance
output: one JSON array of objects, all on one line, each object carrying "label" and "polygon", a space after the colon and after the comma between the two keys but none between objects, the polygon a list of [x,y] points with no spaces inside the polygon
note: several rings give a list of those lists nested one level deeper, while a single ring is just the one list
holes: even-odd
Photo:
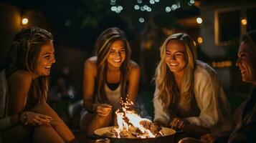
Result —
[{"label": "round metal bowl holding the fire, without flames or logs", "polygon": [[[103,127],[100,129],[96,129],[94,134],[98,137],[103,137],[102,134],[105,132],[110,132],[113,127]],[[151,137],[146,139],[131,139],[131,138],[116,138],[116,137],[108,137],[111,143],[172,143],[174,141],[174,135],[176,131],[171,128],[162,127],[161,131],[163,132],[163,137]]]}]

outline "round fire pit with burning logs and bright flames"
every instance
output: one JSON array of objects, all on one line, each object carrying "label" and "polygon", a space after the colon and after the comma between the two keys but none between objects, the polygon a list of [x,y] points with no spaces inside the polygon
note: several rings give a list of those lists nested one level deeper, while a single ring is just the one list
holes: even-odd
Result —
[{"label": "round fire pit with burning logs and bright flames", "polygon": [[104,127],[95,130],[99,137],[108,137],[111,142],[173,142],[174,129],[162,127],[159,129],[149,119],[141,118],[133,109],[133,102],[128,98],[119,99],[122,109],[115,111],[116,127]]}]

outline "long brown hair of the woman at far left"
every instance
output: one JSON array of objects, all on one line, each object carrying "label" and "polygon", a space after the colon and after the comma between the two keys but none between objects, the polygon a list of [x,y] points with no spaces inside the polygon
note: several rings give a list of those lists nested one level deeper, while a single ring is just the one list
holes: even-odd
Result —
[{"label": "long brown hair of the woman at far left", "polygon": [[[22,29],[14,37],[7,62],[6,76],[9,77],[17,70],[36,72],[36,64],[41,47],[48,41],[52,41],[49,31],[37,27]],[[26,109],[31,109],[37,103],[46,102],[49,76],[33,79],[27,95]]]}]

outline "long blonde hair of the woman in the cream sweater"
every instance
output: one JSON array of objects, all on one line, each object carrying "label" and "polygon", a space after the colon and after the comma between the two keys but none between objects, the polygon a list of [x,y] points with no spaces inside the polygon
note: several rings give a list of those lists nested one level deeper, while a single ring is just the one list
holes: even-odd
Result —
[{"label": "long blonde hair of the woman in the cream sweater", "polygon": [[[171,40],[181,41],[186,47],[184,56],[186,57],[186,69],[184,77],[181,81],[181,91],[179,93],[176,85],[174,74],[169,70],[166,64],[166,45]],[[191,99],[194,97],[194,69],[196,65],[196,47],[191,36],[184,33],[173,34],[169,36],[161,46],[161,61],[156,68],[156,87],[158,94],[155,98],[160,98],[163,101],[163,107],[167,110],[170,104],[176,100],[175,97],[181,96],[179,106],[183,109],[190,109]]]}]

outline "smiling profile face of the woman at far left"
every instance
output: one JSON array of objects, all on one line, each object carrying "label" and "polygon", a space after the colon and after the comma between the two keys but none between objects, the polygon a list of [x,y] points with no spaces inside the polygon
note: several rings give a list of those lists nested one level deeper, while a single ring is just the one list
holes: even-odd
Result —
[{"label": "smiling profile face of the woman at far left", "polygon": [[52,64],[55,63],[54,57],[54,46],[52,41],[48,41],[46,44],[42,45],[39,51],[39,56],[35,66],[36,73],[34,77],[48,76]]}]

